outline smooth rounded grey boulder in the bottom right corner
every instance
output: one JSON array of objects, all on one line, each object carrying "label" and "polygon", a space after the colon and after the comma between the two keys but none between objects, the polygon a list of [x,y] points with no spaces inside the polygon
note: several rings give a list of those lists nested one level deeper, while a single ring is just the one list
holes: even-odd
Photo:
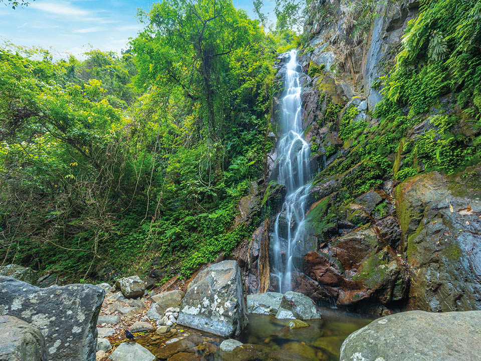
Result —
[{"label": "smooth rounded grey boulder in the bottom right corner", "polygon": [[346,338],[340,361],[475,361],[481,311],[408,311],[378,318]]}]

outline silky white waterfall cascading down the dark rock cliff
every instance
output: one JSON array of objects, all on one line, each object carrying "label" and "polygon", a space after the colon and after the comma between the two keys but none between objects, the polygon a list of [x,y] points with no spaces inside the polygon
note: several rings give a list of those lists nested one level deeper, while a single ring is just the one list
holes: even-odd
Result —
[{"label": "silky white waterfall cascading down the dark rock cliff", "polygon": [[294,252],[305,235],[306,199],[311,187],[309,172],[310,146],[303,137],[300,66],[297,51],[289,53],[286,65],[286,95],[282,99],[283,137],[277,145],[278,183],[285,185],[287,195],[271,235],[272,273],[278,279],[280,292],[292,289]]}]

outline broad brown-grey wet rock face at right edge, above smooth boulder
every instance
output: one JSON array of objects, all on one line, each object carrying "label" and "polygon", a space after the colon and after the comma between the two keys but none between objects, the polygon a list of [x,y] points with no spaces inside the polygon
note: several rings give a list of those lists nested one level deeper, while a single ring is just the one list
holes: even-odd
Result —
[{"label": "broad brown-grey wet rock face at right edge, above smooth boulder", "polygon": [[426,173],[395,190],[403,248],[412,267],[409,307],[481,308],[481,165]]}]

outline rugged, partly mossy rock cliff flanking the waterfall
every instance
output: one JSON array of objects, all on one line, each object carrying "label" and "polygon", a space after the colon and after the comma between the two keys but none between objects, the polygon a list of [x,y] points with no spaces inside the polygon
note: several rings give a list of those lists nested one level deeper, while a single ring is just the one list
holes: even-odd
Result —
[{"label": "rugged, partly mossy rock cliff flanking the waterfall", "polygon": [[[317,0],[307,14],[309,40],[298,57],[316,175],[293,290],[318,303],[375,314],[479,309],[481,126],[456,102],[459,89],[436,93],[424,111],[384,101],[419,2]],[[257,206],[263,223],[234,252],[251,293],[276,290],[266,277],[272,259],[266,244],[285,193],[274,182],[274,150],[267,160],[253,195],[264,200]]]}]

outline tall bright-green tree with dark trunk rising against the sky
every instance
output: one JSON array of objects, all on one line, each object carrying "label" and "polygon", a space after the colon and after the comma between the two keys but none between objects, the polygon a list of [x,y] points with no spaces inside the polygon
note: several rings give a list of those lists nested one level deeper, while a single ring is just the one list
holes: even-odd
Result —
[{"label": "tall bright-green tree with dark trunk rising against the sky", "polygon": [[[262,39],[256,22],[231,0],[166,0],[149,14],[148,27],[131,42],[137,55],[137,85],[165,82],[180,87],[202,109],[204,129],[216,137],[228,92],[229,55]],[[153,80],[153,82],[152,82]]]}]

